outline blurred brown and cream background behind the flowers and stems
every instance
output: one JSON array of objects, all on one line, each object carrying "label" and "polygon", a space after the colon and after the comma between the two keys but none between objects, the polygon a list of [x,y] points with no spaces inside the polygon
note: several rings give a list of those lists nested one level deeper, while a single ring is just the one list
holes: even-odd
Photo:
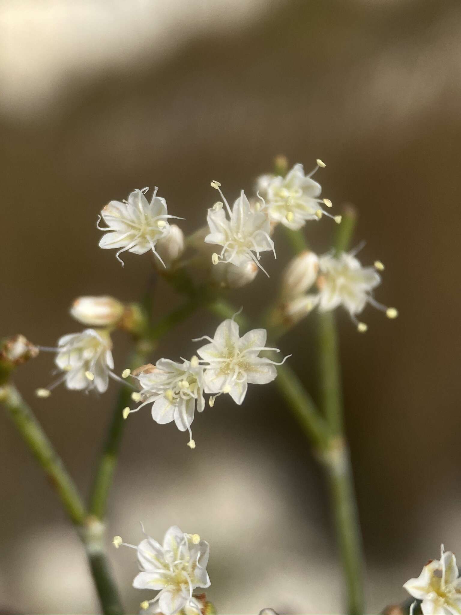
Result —
[{"label": "blurred brown and cream background behind the flowers and stems", "polygon": [[[111,199],[159,186],[193,231],[226,194],[285,154],[335,205],[358,208],[364,263],[384,261],[366,335],[339,314],[341,356],[367,561],[368,611],[405,598],[440,542],[461,549],[459,429],[459,0],[3,0],[0,4],[1,334],[52,346],[79,325],[79,295],[140,298],[151,261],[100,250]],[[309,224],[328,250],[334,224]],[[265,259],[234,303],[257,314],[289,250]],[[159,282],[154,315],[180,299]],[[217,321],[200,313],[152,356],[189,356]],[[299,335],[302,330],[305,335]],[[458,339],[458,341],[456,341]],[[114,339],[117,370],[128,341]],[[315,396],[308,320],[280,341]],[[117,396],[60,388],[51,355],[15,380],[82,490]],[[16,613],[98,610],[85,555],[41,470],[0,415],[0,605]],[[273,386],[195,418],[195,451],[148,410],[127,423],[108,541],[168,526],[211,544],[208,597],[219,613],[331,613],[342,579],[317,462]],[[134,554],[109,550],[128,612]]]}]

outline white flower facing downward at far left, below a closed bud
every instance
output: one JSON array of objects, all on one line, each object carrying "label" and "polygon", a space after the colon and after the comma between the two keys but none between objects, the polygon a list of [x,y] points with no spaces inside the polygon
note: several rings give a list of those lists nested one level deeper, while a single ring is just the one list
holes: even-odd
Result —
[{"label": "white flower facing downward at far left, below a closed bud", "polygon": [[63,371],[47,389],[37,389],[39,397],[48,397],[50,391],[65,381],[68,389],[103,393],[108,387],[109,376],[119,379],[112,369],[112,342],[104,330],[85,329],[81,333],[64,335],[58,340],[57,348],[40,347],[41,350],[56,352],[55,363]]}]

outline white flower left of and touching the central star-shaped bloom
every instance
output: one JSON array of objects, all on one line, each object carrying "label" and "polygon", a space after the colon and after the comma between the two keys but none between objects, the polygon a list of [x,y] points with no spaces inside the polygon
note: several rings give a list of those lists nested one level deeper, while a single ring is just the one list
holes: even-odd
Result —
[{"label": "white flower left of and touching the central star-shaped bloom", "polygon": [[161,425],[175,421],[180,431],[189,431],[189,446],[194,448],[191,424],[194,420],[195,405],[202,412],[205,408],[203,397],[203,367],[197,357],[182,363],[170,359],[159,359],[154,365],[144,365],[135,370],[133,376],[141,387],[141,407],[152,403],[152,418]]}]

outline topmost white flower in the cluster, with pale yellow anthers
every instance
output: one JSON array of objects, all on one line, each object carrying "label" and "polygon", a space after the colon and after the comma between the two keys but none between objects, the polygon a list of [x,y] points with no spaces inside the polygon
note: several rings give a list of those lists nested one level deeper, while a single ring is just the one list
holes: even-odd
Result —
[{"label": "topmost white flower in the cluster, with pale yellow anthers", "polygon": [[304,174],[302,164],[295,164],[285,177],[280,175],[262,175],[258,178],[257,189],[266,200],[270,221],[280,222],[292,230],[300,229],[307,220],[320,220],[325,214],[338,224],[341,216],[332,216],[322,205],[331,207],[329,199],[319,199],[321,186],[312,179],[318,167],[325,167],[321,160],[317,167]]}]

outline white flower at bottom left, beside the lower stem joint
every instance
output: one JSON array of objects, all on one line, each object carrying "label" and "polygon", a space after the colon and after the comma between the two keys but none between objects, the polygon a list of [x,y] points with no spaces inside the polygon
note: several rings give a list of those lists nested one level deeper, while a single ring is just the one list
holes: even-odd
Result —
[{"label": "white flower at bottom left, beside the lower stem joint", "polygon": [[[209,587],[207,573],[210,545],[199,534],[186,534],[173,525],[165,534],[163,545],[150,536],[138,544],[114,538],[114,545],[136,549],[141,572],[133,581],[137,589],[160,590],[152,600],[142,603],[144,609],[159,601],[160,613],[176,615],[184,609],[196,608],[192,596],[196,587]],[[194,611],[192,611],[194,612]]]}]

